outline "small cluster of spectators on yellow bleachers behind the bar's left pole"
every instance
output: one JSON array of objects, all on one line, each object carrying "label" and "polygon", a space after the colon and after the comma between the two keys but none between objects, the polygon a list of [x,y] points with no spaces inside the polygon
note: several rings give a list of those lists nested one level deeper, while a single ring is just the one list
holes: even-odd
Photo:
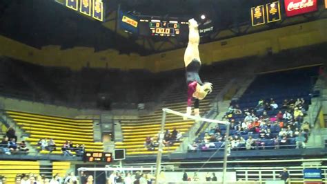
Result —
[{"label": "small cluster of spectators on yellow bleachers behind the bar's left pole", "polygon": [[[169,147],[174,145],[175,142],[179,142],[182,137],[183,136],[181,132],[178,131],[176,128],[174,128],[171,132],[166,129],[163,143],[166,147]],[[159,134],[152,138],[150,136],[146,137],[146,142],[144,142],[144,146],[146,147],[146,149],[148,149],[149,151],[154,151],[155,148],[159,146],[158,138]]]}]

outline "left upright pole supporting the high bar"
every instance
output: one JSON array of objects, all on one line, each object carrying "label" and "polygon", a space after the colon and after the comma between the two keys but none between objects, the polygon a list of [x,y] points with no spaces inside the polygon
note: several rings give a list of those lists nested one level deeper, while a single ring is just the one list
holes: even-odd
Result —
[{"label": "left upright pole supporting the high bar", "polygon": [[161,169],[161,157],[162,157],[162,149],[163,149],[163,140],[164,140],[164,128],[165,128],[165,122],[166,122],[166,111],[162,111],[162,119],[161,119],[161,128],[160,128],[160,134],[159,134],[159,147],[158,147],[158,154],[157,154],[157,162],[156,162],[156,172],[155,172],[155,184],[159,184],[159,174]]}]

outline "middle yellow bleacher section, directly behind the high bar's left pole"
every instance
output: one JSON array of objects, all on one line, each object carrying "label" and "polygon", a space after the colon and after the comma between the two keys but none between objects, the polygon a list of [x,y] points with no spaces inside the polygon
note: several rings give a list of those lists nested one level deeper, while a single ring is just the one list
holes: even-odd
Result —
[{"label": "middle yellow bleacher section, directly behind the high bar's left pole", "polygon": [[[205,113],[210,109],[210,103],[217,93],[226,84],[226,79],[217,78],[215,76],[204,77],[204,79],[212,82],[213,91],[206,99],[200,101],[200,111]],[[181,84],[186,86],[185,84]],[[115,142],[117,149],[126,149],[127,155],[137,154],[157,154],[157,148],[155,151],[148,151],[144,146],[146,137],[157,136],[160,130],[162,108],[169,108],[179,112],[186,111],[186,89],[181,90],[179,86],[175,91],[170,93],[164,98],[164,104],[158,108],[154,113],[146,116],[139,116],[135,120],[121,120],[121,127],[123,131],[123,142]],[[192,120],[183,120],[180,116],[167,114],[166,127],[169,131],[176,128],[181,133],[186,133],[195,122]],[[179,147],[179,142],[175,142],[170,147],[164,147],[164,154],[175,151]]]}]

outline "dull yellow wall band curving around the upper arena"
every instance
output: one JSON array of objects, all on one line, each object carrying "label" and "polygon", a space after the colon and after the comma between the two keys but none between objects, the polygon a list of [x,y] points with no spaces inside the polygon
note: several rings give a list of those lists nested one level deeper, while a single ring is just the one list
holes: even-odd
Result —
[{"label": "dull yellow wall band curving around the upper arena", "polygon": [[[219,42],[201,44],[203,64],[228,59],[279,53],[281,50],[299,48],[327,42],[327,19],[304,24],[266,30],[260,33],[234,37]],[[21,44],[0,36],[0,55],[43,66],[64,66],[80,70],[92,68],[119,68],[121,70],[145,69],[154,73],[183,68],[184,48],[149,56],[119,55],[117,50],[95,52],[94,48],[75,47],[61,50],[60,46],[41,49]]]}]

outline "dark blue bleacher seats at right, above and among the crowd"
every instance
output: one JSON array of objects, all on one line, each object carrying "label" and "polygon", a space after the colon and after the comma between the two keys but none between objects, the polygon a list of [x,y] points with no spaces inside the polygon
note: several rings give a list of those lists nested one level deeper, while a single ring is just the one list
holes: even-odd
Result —
[{"label": "dark blue bleacher seats at right, above and among the crowd", "polygon": [[[248,86],[248,89],[244,92],[241,98],[239,98],[239,100],[232,101],[231,104],[234,106],[238,104],[242,111],[244,109],[255,109],[255,115],[260,117],[262,115],[262,111],[256,111],[258,101],[261,99],[270,101],[270,99],[273,98],[279,107],[274,110],[268,110],[267,114],[270,118],[275,118],[278,111],[282,111],[282,113],[285,111],[285,109],[281,109],[283,100],[297,100],[297,98],[304,98],[304,108],[307,110],[308,105],[310,105],[311,93],[313,92],[312,89],[315,85],[315,81],[317,80],[318,67],[319,66],[311,66],[298,68],[291,71],[278,71],[273,73],[259,74],[252,82],[252,84]],[[244,113],[233,113],[229,115],[229,120],[234,120],[235,125],[238,125],[239,122],[244,122],[244,118],[246,116]],[[221,130],[221,135],[224,135],[226,133],[226,126],[220,125],[219,127]],[[273,122],[271,122],[269,129],[271,131],[272,139],[260,140],[260,143],[264,143],[266,149],[272,149],[275,147],[276,144],[273,138],[276,138],[276,136],[279,134],[281,127],[279,127],[279,125],[274,125]],[[210,131],[207,131],[207,133],[210,133]],[[204,140],[204,135],[204,133],[201,134],[196,141]],[[244,140],[247,140],[248,136],[252,136],[254,139],[259,138],[259,133],[255,134],[252,133],[252,131],[250,132],[246,130],[239,134],[237,133],[237,130],[232,127],[230,129],[230,136],[235,135],[242,136]],[[288,138],[287,140],[288,143],[284,148],[296,147],[295,137]],[[222,142],[214,142],[214,144],[215,147],[210,146],[210,149],[219,149]],[[200,143],[198,149],[201,149],[204,146],[204,143]],[[258,147],[260,147],[260,145],[257,146],[257,149]]]}]

